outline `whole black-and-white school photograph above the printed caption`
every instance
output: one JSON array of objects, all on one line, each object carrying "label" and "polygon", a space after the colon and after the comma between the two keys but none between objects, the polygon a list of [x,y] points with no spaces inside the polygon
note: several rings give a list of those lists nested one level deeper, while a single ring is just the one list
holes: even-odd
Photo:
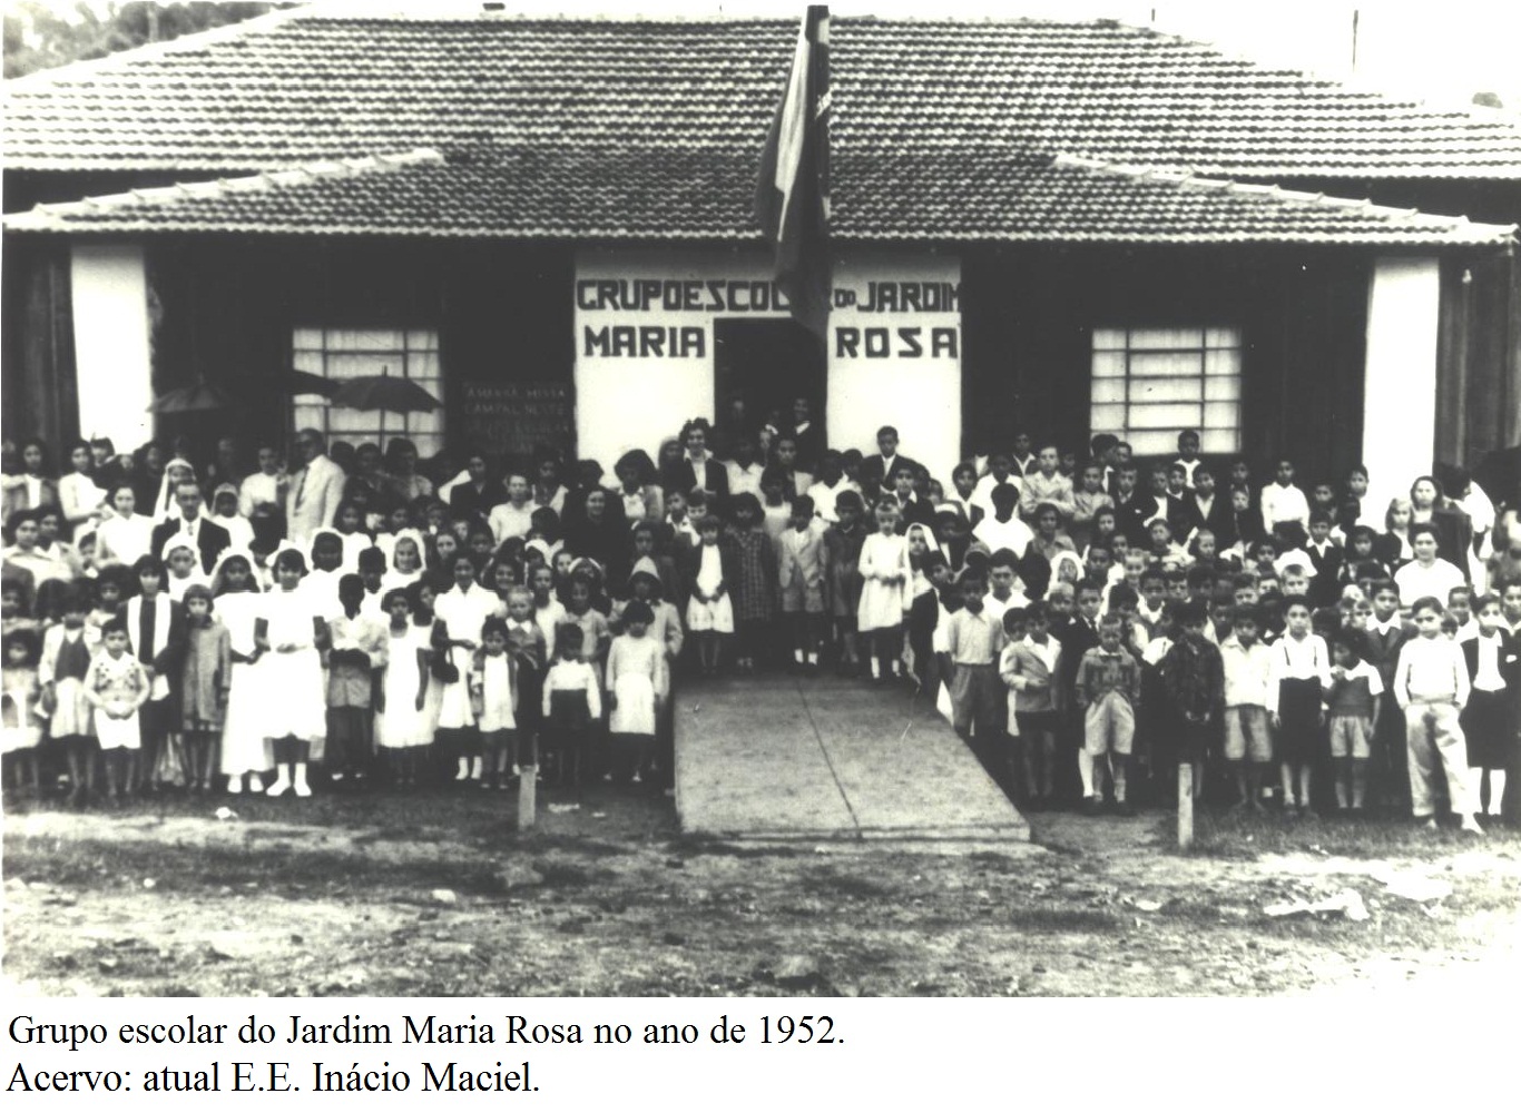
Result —
[{"label": "whole black-and-white school photograph above the printed caption", "polygon": [[8,2],[12,1011],[1509,1016],[1518,41]]}]

